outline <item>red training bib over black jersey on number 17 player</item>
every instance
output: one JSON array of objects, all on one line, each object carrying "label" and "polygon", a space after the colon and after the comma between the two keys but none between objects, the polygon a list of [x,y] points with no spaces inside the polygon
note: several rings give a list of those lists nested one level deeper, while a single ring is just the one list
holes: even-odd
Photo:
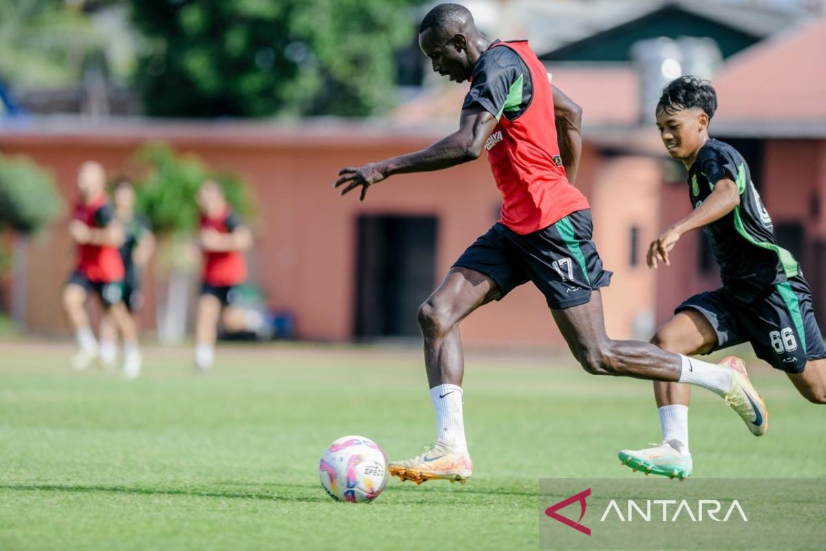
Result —
[{"label": "red training bib over black jersey on number 17 player", "polygon": [[502,195],[500,220],[520,235],[589,208],[567,181],[548,73],[526,40],[494,42],[473,67],[463,109],[478,103],[499,124],[485,149]]}]

